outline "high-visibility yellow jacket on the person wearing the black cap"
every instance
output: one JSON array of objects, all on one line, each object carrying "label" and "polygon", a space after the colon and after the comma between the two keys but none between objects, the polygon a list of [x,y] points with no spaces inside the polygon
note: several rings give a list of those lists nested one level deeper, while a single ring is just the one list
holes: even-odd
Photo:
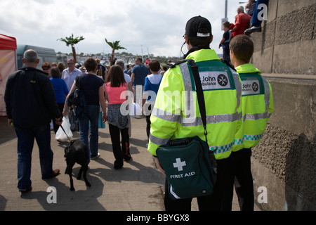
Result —
[{"label": "high-visibility yellow jacket on the person wearing the black cap", "polygon": [[[207,141],[216,159],[228,158],[235,134],[242,123],[241,80],[211,49],[194,51],[204,91]],[[150,118],[148,151],[156,155],[159,146],[171,139],[199,136],[205,140],[202,118],[189,63],[169,69],[162,79]]]}]

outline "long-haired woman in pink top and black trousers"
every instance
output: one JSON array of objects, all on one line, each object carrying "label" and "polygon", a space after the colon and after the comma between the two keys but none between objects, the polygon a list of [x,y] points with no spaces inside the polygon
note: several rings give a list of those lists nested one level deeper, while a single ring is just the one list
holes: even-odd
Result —
[{"label": "long-haired woman in pink top and black trousers", "polygon": [[[112,141],[113,154],[115,158],[114,169],[123,167],[123,159],[131,160],[129,152],[129,116],[122,115],[121,103],[126,101],[121,99],[121,93],[126,91],[127,84],[124,72],[119,65],[113,65],[107,75],[105,93],[108,105],[107,122],[109,124],[110,136]],[[121,133],[121,144],[119,140]]]}]

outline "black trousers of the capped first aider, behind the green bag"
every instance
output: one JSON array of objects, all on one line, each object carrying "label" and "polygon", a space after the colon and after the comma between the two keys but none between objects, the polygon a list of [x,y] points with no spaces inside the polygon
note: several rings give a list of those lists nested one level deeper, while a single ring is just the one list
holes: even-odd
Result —
[{"label": "black trousers of the capped first aider, behind the green bag", "polygon": [[[233,187],[229,186],[233,180],[230,160],[217,160],[217,180],[211,195],[197,198],[200,211],[232,210],[232,203],[229,202]],[[166,211],[190,211],[192,198],[173,200],[170,198],[168,186],[165,185],[164,206]],[[232,198],[231,198],[232,199]]]}]

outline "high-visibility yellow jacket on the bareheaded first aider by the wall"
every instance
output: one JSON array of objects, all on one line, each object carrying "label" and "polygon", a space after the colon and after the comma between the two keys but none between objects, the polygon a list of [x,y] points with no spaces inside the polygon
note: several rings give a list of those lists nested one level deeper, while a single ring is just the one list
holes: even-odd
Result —
[{"label": "high-visibility yellow jacket on the bareheaded first aider by the wall", "polygon": [[261,140],[267,122],[273,113],[272,89],[252,64],[236,68],[242,79],[242,127],[236,134],[232,151],[252,148]]}]

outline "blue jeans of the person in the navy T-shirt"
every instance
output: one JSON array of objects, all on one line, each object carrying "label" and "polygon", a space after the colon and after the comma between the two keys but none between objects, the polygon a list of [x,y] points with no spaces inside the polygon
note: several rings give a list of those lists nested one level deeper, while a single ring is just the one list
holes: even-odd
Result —
[{"label": "blue jeans of the person in the navy T-shirt", "polygon": [[[87,105],[87,115],[78,118],[80,127],[80,141],[86,143],[88,146],[88,163],[90,158],[98,155],[98,141],[99,141],[99,105]],[[89,123],[90,122],[90,123]],[[89,124],[90,124],[90,141],[89,136]]]}]

